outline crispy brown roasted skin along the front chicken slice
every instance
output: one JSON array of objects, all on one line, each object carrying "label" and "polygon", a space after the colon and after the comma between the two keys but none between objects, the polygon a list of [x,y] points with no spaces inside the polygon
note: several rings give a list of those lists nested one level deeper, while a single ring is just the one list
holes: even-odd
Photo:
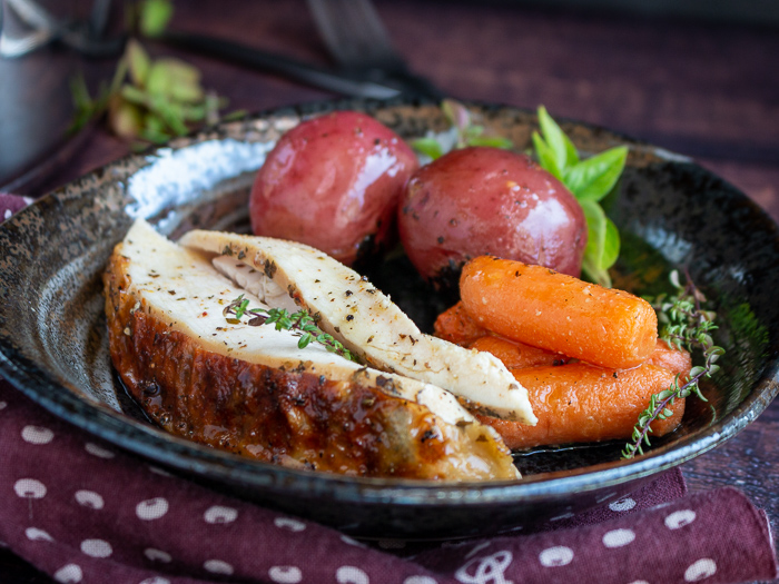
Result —
[{"label": "crispy brown roasted skin along the front chicken slice", "polygon": [[127,276],[129,261],[120,245],[103,276],[110,353],[130,394],[168,432],[348,475],[515,478],[487,428],[443,424],[427,407],[392,395],[389,379],[377,387],[357,372],[332,380],[306,364],[273,367],[204,349],[147,306]]}]

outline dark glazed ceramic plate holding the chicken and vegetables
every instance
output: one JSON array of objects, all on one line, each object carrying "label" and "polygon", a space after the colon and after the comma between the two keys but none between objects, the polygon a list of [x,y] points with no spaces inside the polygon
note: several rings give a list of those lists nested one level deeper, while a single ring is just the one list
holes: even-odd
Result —
[{"label": "dark glazed ceramic plate holding the chicken and vegetables", "polygon": [[[473,105],[485,125],[529,145],[535,117]],[[639,293],[689,269],[720,315],[727,356],[708,403],[692,402],[681,428],[647,456],[621,461],[622,444],[525,453],[521,482],[440,484],[357,479],[290,471],[170,436],[144,418],[110,366],[100,275],[136,217],[177,237],[196,226],[245,229],[255,170],[278,136],[333,109],[367,110],[404,137],[443,130],[432,105],[343,101],[276,110],[224,123],[132,156],[52,192],[0,227],[0,368],[62,418],[223,492],[381,537],[456,537],[507,531],[617,499],[717,446],[755,419],[778,390],[779,237],[741,192],[692,164],[579,123],[563,128],[584,151],[630,146],[608,212],[623,236],[621,283]],[[407,277],[397,277],[398,271]],[[435,297],[403,260],[372,274],[430,326]],[[398,281],[405,283],[402,288]],[[393,285],[393,283],[395,283]]]}]

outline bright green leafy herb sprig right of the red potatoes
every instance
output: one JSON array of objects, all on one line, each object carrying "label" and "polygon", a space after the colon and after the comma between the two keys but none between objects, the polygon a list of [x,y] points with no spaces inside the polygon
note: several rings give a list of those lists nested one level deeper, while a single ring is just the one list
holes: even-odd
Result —
[{"label": "bright green leafy herb sprig right of the red potatoes", "polygon": [[620,254],[620,234],[599,201],[614,188],[622,175],[628,148],[618,146],[582,160],[571,139],[543,106],[539,107],[539,126],[541,133],[533,132],[539,162],[569,188],[586,218],[588,242],[582,271],[586,278],[610,288],[608,270]]}]

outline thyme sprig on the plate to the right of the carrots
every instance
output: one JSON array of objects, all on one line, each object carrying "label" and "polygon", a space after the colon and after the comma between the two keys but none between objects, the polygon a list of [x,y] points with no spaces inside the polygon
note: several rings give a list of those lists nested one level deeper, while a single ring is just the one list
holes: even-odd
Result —
[{"label": "thyme sprig on the plate to the right of the carrots", "polygon": [[649,407],[639,416],[633,427],[631,442],[622,451],[623,458],[633,458],[635,454],[643,454],[643,445],[650,446],[649,434],[651,424],[655,419],[665,419],[673,414],[670,406],[677,399],[683,399],[694,394],[703,402],[706,397],[700,390],[700,382],[704,377],[711,377],[719,370],[717,360],[724,355],[724,349],[714,345],[711,333],[717,328],[714,313],[703,310],[702,304],[706,297],[687,276],[687,283],[679,283],[679,273],[671,273],[671,284],[678,293],[671,296],[658,296],[652,306],[658,311],[658,320],[661,324],[660,338],[678,348],[690,353],[700,349],[703,354],[703,365],[690,369],[687,382],[680,383],[677,375],[668,389],[652,395]]}]

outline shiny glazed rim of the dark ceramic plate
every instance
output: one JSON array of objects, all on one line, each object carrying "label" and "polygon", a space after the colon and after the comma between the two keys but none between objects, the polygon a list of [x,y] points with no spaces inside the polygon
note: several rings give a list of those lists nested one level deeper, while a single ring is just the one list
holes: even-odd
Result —
[{"label": "shiny glazed rim of the dark ceramic plate", "polygon": [[[293,109],[296,109],[298,115],[306,115],[328,109],[347,109],[349,106],[365,106],[366,103],[372,103],[376,108],[414,105],[414,102],[405,101],[327,100],[275,108],[255,113],[249,119],[258,120],[272,113],[283,115]],[[469,101],[467,105],[509,108],[515,111],[529,112],[529,110],[513,106],[472,101]],[[575,123],[593,128],[592,125]],[[684,160],[686,164],[689,161],[683,156],[651,147],[610,130],[605,131],[632,146],[653,149],[659,156],[668,160],[679,159]],[[200,135],[187,138],[190,142],[184,147],[198,143],[198,136],[205,137],[206,135],[206,131],[204,131]],[[168,147],[160,146],[147,154],[154,154]],[[132,156],[137,155],[129,155],[110,162],[80,177],[70,185],[86,180],[97,172],[105,172],[106,169]],[[66,185],[39,200],[50,200],[57,194],[63,192],[68,186]],[[752,206],[765,215],[765,211],[751,199],[743,194],[741,196],[747,205]],[[20,212],[23,214],[24,211]],[[773,226],[773,236],[779,241],[779,235],[777,235],[779,231],[776,229],[776,224]],[[3,228],[0,226],[0,229]],[[23,364],[23,366],[20,367],[20,364]],[[621,485],[672,468],[733,437],[757,418],[779,393],[779,383],[777,383],[779,378],[779,358],[773,355],[761,372],[759,380],[752,386],[750,394],[732,412],[709,426],[702,435],[691,434],[683,436],[632,461],[603,463],[560,473],[543,473],[522,481],[454,483],[402,478],[347,477],[329,473],[297,471],[201,446],[172,436],[160,428],[137,422],[107,406],[98,405],[91,398],[80,397],[72,389],[58,383],[50,372],[38,367],[34,363],[30,363],[26,357],[17,354],[16,349],[10,347],[4,339],[0,339],[0,372],[19,390],[57,417],[107,439],[116,446],[138,454],[149,462],[160,463],[181,471],[187,475],[195,474],[209,481],[230,483],[239,479],[260,489],[293,489],[297,494],[312,493],[314,491],[316,496],[321,498],[336,501],[354,501],[357,498],[361,504],[367,505],[374,503],[412,506],[448,506],[453,503],[457,505],[507,504],[533,502],[535,499],[544,501],[550,496],[564,497],[565,494]],[[186,459],[181,455],[185,455]]]}]

